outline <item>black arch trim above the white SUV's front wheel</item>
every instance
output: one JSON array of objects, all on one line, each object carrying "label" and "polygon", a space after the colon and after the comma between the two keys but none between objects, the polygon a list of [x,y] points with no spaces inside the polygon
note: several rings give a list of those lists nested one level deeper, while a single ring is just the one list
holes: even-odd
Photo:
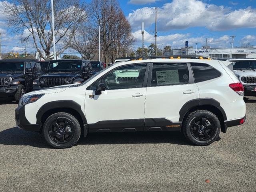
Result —
[{"label": "black arch trim above the white SUV's front wheel", "polygon": [[74,102],[73,100],[59,100],[59,101],[52,101],[44,104],[43,106],[40,107],[40,109],[36,114],[36,123],[41,124],[42,116],[45,114],[45,112],[49,110],[60,109],[60,108],[75,110],[81,116],[83,121],[82,123],[87,124],[86,117],[82,112],[80,104],[78,104],[77,102]]}]

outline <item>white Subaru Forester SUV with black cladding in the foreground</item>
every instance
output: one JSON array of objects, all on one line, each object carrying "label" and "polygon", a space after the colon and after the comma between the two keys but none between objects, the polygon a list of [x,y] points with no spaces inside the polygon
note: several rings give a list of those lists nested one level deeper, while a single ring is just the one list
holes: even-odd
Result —
[{"label": "white Subaru Forester SUV with black cladding in the foreground", "polygon": [[56,148],[90,132],[180,131],[196,145],[243,124],[244,87],[231,62],[202,56],[135,58],[105,68],[82,84],[25,94],[18,128],[43,133]]}]

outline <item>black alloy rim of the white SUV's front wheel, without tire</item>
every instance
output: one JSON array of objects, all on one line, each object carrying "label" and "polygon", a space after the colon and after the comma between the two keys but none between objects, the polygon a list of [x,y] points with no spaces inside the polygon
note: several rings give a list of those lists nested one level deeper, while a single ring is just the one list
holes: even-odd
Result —
[{"label": "black alloy rim of the white SUV's front wheel, without tire", "polygon": [[69,142],[74,136],[74,127],[72,123],[64,118],[54,120],[49,129],[48,134],[52,141],[63,144]]}]

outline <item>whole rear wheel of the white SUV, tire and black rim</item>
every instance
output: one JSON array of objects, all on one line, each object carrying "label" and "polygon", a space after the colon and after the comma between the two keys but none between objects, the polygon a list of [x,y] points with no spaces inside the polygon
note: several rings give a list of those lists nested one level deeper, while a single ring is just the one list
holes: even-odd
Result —
[{"label": "whole rear wheel of the white SUV, tire and black rim", "polygon": [[207,110],[192,112],[184,122],[183,134],[192,144],[209,145],[216,141],[220,134],[220,121],[215,114]]}]

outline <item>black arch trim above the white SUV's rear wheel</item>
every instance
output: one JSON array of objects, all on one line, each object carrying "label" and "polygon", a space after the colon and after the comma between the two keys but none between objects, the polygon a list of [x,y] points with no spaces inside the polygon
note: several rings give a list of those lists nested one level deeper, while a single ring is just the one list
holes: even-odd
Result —
[{"label": "black arch trim above the white SUV's rear wheel", "polygon": [[224,109],[220,106],[220,102],[216,101],[213,98],[198,98],[198,99],[193,99],[190,100],[188,102],[186,102],[182,108],[180,109],[180,118],[179,121],[182,122],[186,113],[191,110],[194,107],[199,107],[199,106],[205,106],[205,105],[210,105],[210,106],[214,106],[216,108],[218,108],[218,110],[220,110],[220,112],[222,113],[223,116],[223,120],[227,120],[227,116],[226,113],[224,111]]}]

